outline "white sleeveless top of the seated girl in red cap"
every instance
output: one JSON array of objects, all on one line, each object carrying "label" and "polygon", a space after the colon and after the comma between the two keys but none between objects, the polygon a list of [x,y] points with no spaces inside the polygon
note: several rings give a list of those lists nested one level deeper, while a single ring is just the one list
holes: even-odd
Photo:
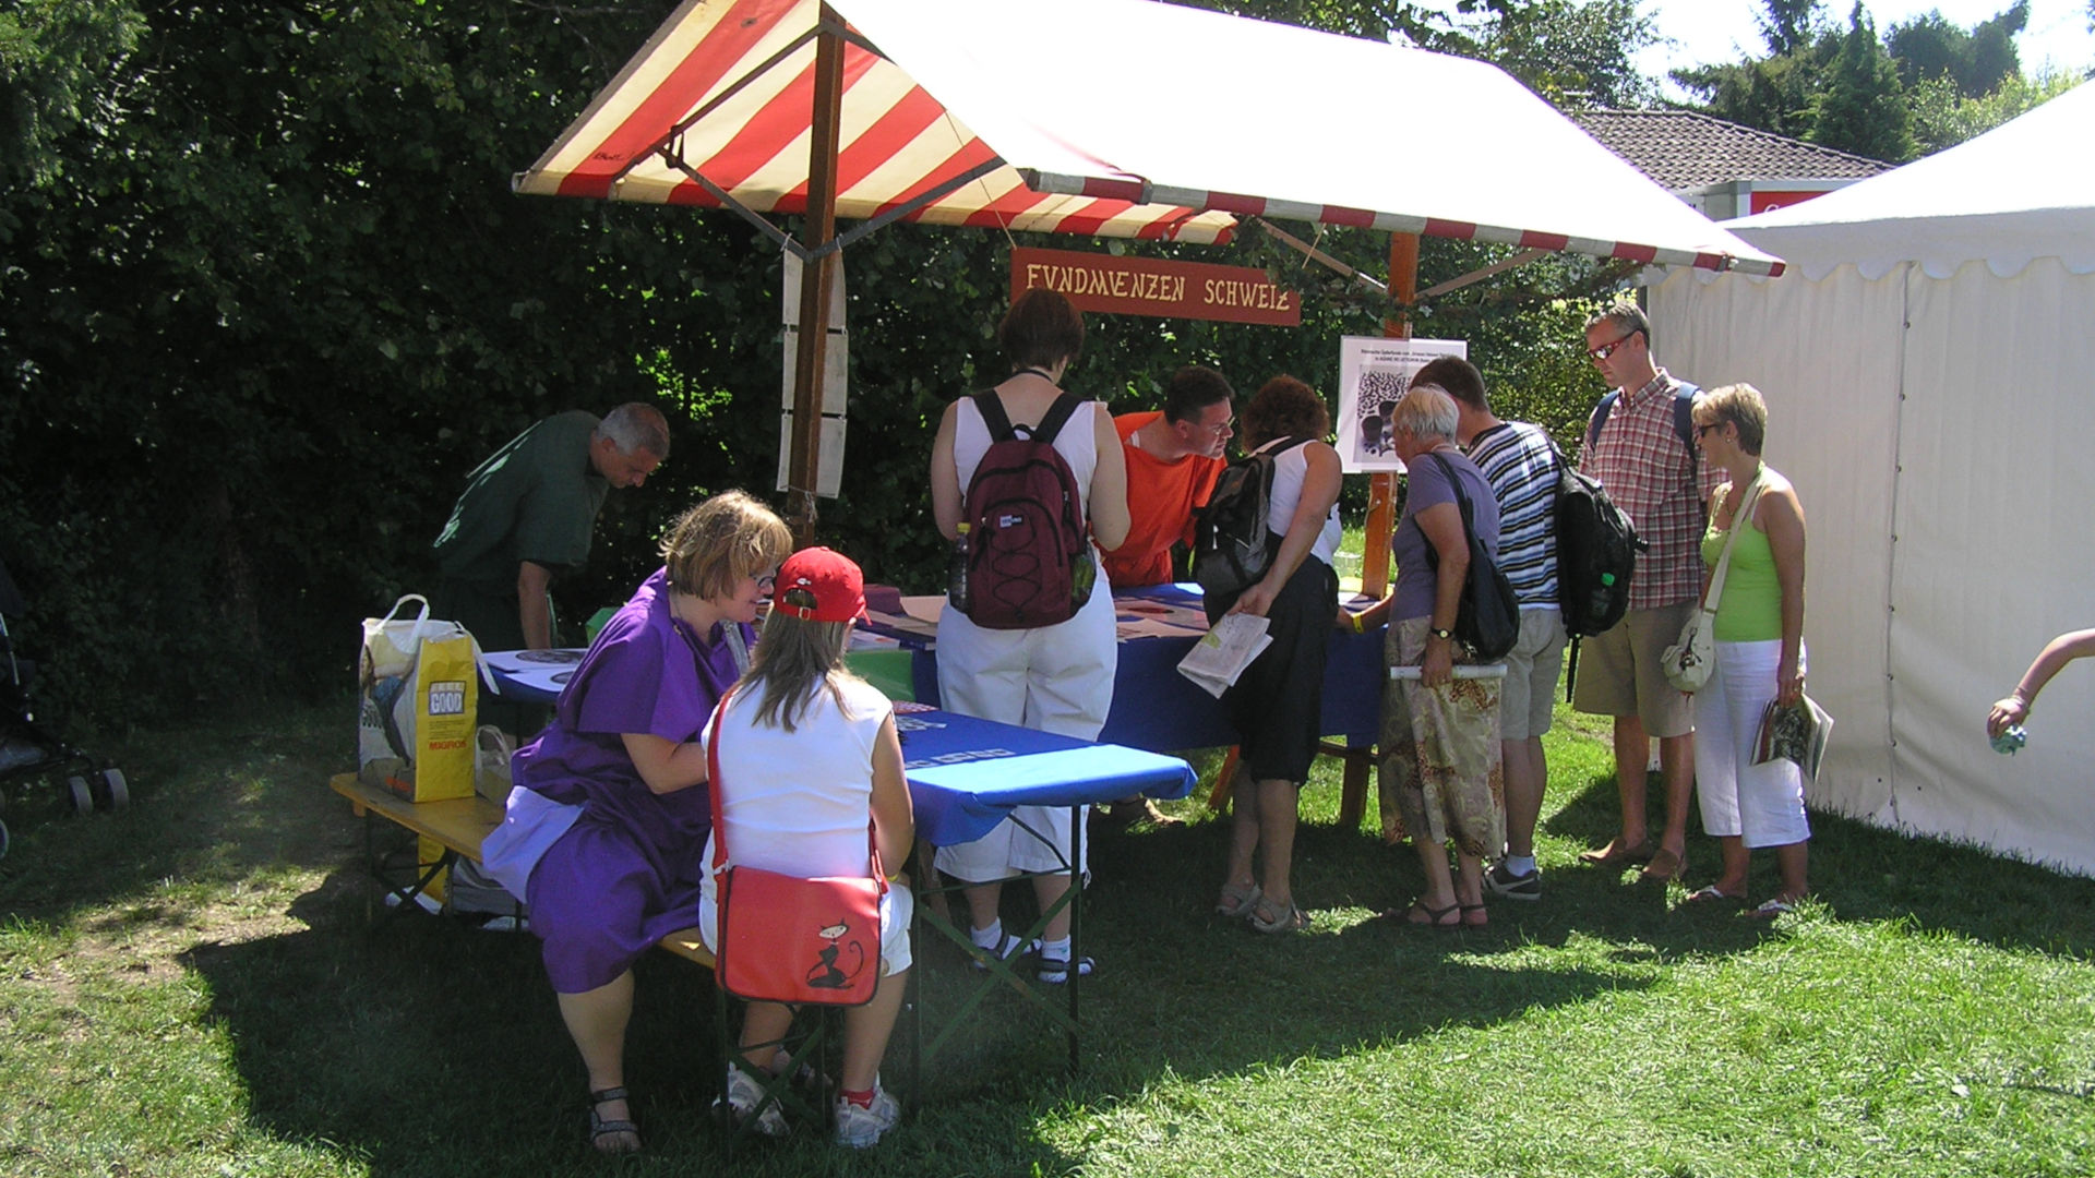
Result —
[{"label": "white sleeveless top of the seated girl in red cap", "polygon": [[[794,732],[756,721],[754,688],[727,700],[716,788],[729,861],[800,878],[865,876],[874,740],[895,704],[867,683],[846,683],[844,700],[848,708],[838,708],[828,688],[817,690]],[[706,868],[710,880],[710,841]]]}]

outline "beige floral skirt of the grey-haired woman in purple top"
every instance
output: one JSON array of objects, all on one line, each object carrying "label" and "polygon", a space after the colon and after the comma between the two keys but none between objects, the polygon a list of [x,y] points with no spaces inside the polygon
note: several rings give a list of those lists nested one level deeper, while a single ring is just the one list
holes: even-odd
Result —
[{"label": "beige floral skirt of the grey-haired woman in purple top", "polygon": [[[1425,658],[1427,618],[1391,623],[1383,658],[1412,667]],[[1456,662],[1473,662],[1460,656]],[[1498,748],[1498,679],[1416,679],[1383,685],[1383,763],[1376,792],[1383,841],[1406,836],[1454,843],[1462,855],[1494,857],[1506,845],[1506,782]]]}]

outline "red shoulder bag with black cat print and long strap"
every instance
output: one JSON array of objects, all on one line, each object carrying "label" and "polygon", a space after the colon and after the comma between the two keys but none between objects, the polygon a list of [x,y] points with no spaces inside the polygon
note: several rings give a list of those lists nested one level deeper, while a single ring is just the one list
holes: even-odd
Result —
[{"label": "red shoulder bag with black cat print and long strap", "polygon": [[712,876],[716,908],[714,979],[752,1002],[863,1006],[880,983],[880,899],[888,891],[872,820],[865,824],[872,876],[800,878],[737,866],[721,822],[721,719],[729,690],[706,732],[706,794],[712,799]]}]

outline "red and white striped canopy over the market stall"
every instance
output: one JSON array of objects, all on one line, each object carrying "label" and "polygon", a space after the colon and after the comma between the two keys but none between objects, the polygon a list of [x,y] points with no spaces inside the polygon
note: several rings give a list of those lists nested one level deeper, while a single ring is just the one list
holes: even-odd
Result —
[{"label": "red and white striped canopy over the market stall", "polygon": [[[844,50],[840,218],[980,168],[909,220],[1217,241],[1263,214],[1781,272],[1479,61],[1154,0],[830,6],[880,50]],[[687,0],[515,191],[719,208],[675,157],[802,212],[819,8]]]}]

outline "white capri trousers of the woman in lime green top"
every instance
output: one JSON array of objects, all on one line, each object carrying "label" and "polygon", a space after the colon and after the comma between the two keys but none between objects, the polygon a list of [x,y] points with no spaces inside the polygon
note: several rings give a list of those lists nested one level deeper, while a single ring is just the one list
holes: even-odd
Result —
[{"label": "white capri trousers of the woman in lime green top", "polygon": [[1747,849],[1812,836],[1804,817],[1804,771],[1795,761],[1754,765],[1760,713],[1774,698],[1781,660],[1781,639],[1720,641],[1710,681],[1695,692],[1695,794],[1703,832],[1737,836]]}]

